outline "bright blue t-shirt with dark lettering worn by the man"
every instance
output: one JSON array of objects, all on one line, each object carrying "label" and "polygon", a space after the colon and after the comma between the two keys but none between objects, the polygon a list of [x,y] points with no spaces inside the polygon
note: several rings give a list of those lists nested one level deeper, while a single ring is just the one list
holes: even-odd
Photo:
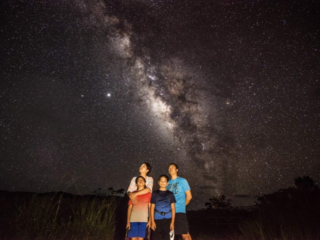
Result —
[{"label": "bright blue t-shirt with dark lettering worn by the man", "polygon": [[184,178],[177,177],[176,179],[170,179],[168,182],[167,189],[174,194],[176,203],[176,212],[186,213],[186,191],[191,190],[188,181]]}]

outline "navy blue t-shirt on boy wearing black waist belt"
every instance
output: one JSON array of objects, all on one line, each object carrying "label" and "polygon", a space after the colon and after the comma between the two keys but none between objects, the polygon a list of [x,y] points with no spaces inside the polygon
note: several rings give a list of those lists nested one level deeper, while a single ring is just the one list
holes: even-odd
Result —
[{"label": "navy blue t-shirt on boy wearing black waist belt", "polygon": [[[159,212],[168,212],[171,210],[171,204],[175,203],[176,199],[172,192],[165,190],[156,190],[152,193],[150,203],[155,204],[155,209]],[[155,220],[164,219],[164,218],[172,218],[172,212],[168,212],[165,215],[161,215],[160,213],[155,211]]]}]

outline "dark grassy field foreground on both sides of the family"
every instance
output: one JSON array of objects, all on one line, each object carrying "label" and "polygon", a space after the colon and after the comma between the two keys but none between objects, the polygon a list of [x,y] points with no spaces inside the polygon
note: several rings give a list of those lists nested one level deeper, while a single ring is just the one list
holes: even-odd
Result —
[{"label": "dark grassy field foreground on both sides of the family", "polygon": [[[252,211],[214,204],[189,211],[193,239],[320,240],[318,188],[258,200]],[[0,239],[124,239],[126,208],[121,196],[0,191]]]}]

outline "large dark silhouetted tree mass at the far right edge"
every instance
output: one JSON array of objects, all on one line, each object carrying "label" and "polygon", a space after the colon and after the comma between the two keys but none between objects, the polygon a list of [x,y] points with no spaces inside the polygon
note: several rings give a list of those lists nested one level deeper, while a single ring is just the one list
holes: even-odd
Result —
[{"label": "large dark silhouetted tree mass at the far right edge", "polygon": [[258,196],[252,219],[241,231],[259,226],[255,230],[259,234],[246,239],[261,239],[260,234],[269,236],[264,239],[319,239],[320,189],[308,176],[295,178],[294,184],[296,187]]}]

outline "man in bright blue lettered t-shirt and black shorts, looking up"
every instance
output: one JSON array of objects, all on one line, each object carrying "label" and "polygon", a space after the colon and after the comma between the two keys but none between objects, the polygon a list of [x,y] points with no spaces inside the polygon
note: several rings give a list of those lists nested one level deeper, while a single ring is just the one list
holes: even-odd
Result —
[{"label": "man in bright blue lettered t-shirt and black shorts, looking up", "polygon": [[167,189],[174,194],[177,201],[175,203],[176,216],[174,221],[174,233],[177,235],[181,234],[183,240],[192,240],[186,214],[186,205],[190,203],[192,198],[191,188],[189,187],[187,180],[178,177],[177,164],[169,164],[168,172],[171,179],[168,182]]}]

